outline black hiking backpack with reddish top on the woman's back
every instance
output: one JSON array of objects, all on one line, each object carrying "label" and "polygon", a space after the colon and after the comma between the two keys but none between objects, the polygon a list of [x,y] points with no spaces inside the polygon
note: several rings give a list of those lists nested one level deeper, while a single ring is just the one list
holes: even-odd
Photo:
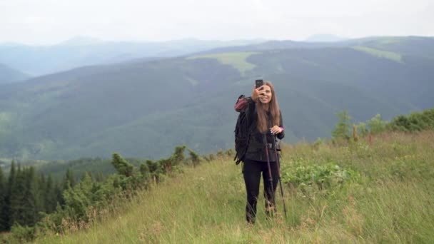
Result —
[{"label": "black hiking backpack with reddish top on the woman's back", "polygon": [[[245,99],[247,103],[251,101],[251,98],[241,95],[238,97],[237,103],[240,99]],[[243,160],[244,155],[246,155],[248,140],[251,134],[251,128],[248,121],[248,105],[246,106],[246,108],[239,111],[238,119],[236,120],[235,131],[233,132],[235,133],[236,151],[236,155],[233,160],[238,165],[238,163]]]}]

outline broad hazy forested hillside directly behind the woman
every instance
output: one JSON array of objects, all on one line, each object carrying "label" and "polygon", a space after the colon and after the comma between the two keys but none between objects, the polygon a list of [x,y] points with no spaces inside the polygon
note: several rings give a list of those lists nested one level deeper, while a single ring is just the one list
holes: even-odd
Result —
[{"label": "broad hazy forested hillside directly behind the woman", "polygon": [[232,148],[233,104],[240,93],[251,93],[256,78],[276,86],[286,141],[313,141],[330,136],[335,114],[343,110],[357,122],[432,108],[432,40],[363,39],[315,49],[247,46],[76,68],[3,85],[0,155],[70,159],[118,151],[160,158],[181,144],[199,153]]}]

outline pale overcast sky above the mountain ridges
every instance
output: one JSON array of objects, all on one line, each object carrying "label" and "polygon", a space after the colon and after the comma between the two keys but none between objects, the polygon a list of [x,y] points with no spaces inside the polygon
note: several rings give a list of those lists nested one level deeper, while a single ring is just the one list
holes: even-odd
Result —
[{"label": "pale overcast sky above the mountain ridges", "polygon": [[433,0],[0,0],[0,43],[434,36]]}]

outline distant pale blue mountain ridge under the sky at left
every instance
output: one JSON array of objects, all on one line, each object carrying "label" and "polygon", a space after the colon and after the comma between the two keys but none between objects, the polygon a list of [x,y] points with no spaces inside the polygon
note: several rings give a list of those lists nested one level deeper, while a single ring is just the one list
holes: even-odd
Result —
[{"label": "distant pale blue mountain ridge under the sky at left", "polygon": [[0,63],[32,76],[41,76],[81,66],[119,63],[131,59],[180,56],[218,46],[238,46],[261,41],[183,39],[163,42],[133,42],[99,41],[98,39],[79,36],[53,46],[0,44]]}]

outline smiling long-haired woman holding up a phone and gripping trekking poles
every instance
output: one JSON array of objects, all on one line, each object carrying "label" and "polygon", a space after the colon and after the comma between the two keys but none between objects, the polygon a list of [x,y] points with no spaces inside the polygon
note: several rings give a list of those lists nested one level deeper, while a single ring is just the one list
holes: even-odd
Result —
[{"label": "smiling long-haired woman holding up a phone and gripping trekking poles", "polygon": [[[276,149],[280,148],[278,143],[273,143],[273,140],[275,136],[279,140],[285,136],[281,111],[273,84],[266,81],[262,86],[257,86],[253,88],[251,99],[244,99],[245,101],[239,99],[235,106],[236,111],[246,109],[248,128],[251,128],[247,151],[242,158],[247,192],[246,220],[248,223],[255,223],[261,174],[266,199],[266,214],[269,217],[276,212],[273,196],[276,192],[279,172],[273,145],[277,145]],[[272,181],[269,176],[268,161],[270,162]]]}]

